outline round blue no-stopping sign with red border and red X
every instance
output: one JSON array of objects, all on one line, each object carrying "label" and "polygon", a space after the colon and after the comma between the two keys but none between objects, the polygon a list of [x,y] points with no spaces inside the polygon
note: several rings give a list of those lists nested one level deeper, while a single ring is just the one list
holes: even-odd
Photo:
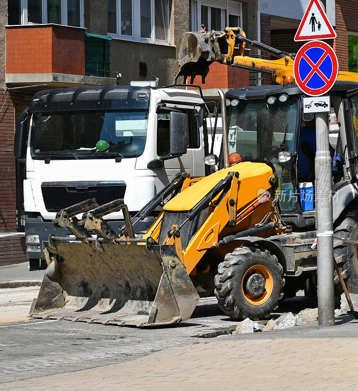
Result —
[{"label": "round blue no-stopping sign with red border and red X", "polygon": [[323,41],[305,43],[296,54],[293,74],[297,86],[305,94],[323,95],[333,87],[337,78],[337,56]]}]

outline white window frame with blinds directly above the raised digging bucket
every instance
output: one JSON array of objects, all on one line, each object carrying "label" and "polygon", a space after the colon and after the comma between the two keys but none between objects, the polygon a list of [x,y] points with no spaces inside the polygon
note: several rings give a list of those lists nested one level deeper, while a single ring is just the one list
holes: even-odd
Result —
[{"label": "white window frame with blinds directly above the raised digging bucket", "polygon": [[[201,6],[208,7],[208,26],[205,26],[206,31],[211,31],[211,7],[221,8],[221,29],[225,27],[238,27],[228,26],[229,14],[239,17],[239,26],[242,26],[242,3],[239,1],[229,0],[222,1],[223,4],[219,4],[213,0],[191,0],[191,30],[199,31],[201,27]],[[234,8],[232,5],[236,4]]]}]

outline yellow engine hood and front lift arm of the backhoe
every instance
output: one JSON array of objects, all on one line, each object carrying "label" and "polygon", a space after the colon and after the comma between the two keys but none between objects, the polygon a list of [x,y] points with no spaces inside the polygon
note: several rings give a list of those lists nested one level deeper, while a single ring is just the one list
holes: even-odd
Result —
[{"label": "yellow engine hood and front lift arm of the backhoe", "polygon": [[167,202],[160,224],[146,235],[174,245],[188,274],[202,273],[208,263],[197,266],[209,250],[222,251],[248,229],[266,237],[279,228],[273,181],[268,165],[252,162],[203,177]]}]

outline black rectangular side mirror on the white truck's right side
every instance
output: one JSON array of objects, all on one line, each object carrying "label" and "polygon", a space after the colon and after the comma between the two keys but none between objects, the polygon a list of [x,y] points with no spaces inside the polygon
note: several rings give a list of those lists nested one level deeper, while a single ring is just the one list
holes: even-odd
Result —
[{"label": "black rectangular side mirror on the white truck's right side", "polygon": [[172,111],[169,126],[170,155],[184,155],[188,148],[188,116]]}]

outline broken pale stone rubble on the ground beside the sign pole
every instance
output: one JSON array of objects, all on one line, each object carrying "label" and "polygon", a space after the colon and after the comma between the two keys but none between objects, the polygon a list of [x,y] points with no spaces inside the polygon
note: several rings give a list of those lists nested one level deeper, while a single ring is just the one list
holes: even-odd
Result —
[{"label": "broken pale stone rubble on the ground beside the sign pole", "polygon": [[[342,315],[340,309],[334,311],[335,316]],[[233,334],[248,334],[257,331],[282,330],[283,328],[302,326],[311,322],[316,322],[318,319],[318,308],[307,308],[293,315],[292,312],[286,312],[277,319],[269,321],[254,322],[251,319],[245,319],[236,327]]]}]

